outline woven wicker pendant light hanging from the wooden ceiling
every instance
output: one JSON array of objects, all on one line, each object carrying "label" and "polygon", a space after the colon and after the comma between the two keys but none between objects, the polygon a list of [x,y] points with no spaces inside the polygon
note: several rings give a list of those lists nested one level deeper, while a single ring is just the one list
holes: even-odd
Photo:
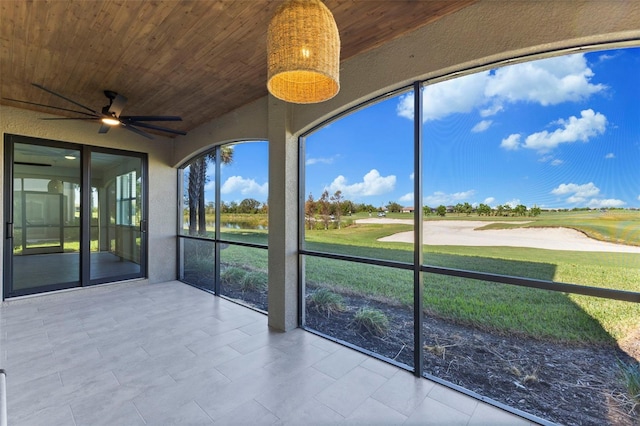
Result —
[{"label": "woven wicker pendant light hanging from the wooden ceiling", "polygon": [[340,90],[340,36],[320,0],[287,0],[267,33],[267,89],[286,102],[310,104]]}]

